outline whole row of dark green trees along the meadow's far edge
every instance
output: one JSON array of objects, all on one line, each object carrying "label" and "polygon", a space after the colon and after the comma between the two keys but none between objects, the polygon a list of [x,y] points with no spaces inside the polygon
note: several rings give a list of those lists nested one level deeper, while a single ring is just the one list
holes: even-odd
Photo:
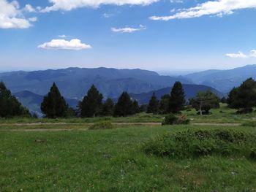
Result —
[{"label": "whole row of dark green trees along the meadow's far edge", "polygon": [[[78,103],[76,110],[69,107],[64,97],[61,96],[56,83],[50,88],[49,93],[44,96],[41,111],[46,118],[81,117],[94,118],[97,116],[126,117],[139,112],[153,114],[178,113],[184,110],[186,105],[195,108],[199,115],[207,115],[213,108],[219,107],[219,102],[225,102],[228,107],[238,110],[238,113],[252,112],[256,107],[256,82],[252,78],[233,88],[226,98],[219,97],[210,90],[199,92],[195,98],[185,99],[184,89],[181,82],[175,82],[170,94],[165,94],[160,100],[155,93],[152,94],[148,104],[140,105],[135,99],[131,99],[127,92],[121,93],[116,104],[110,98],[103,101],[102,93],[99,93],[94,85]],[[29,110],[12,95],[6,88],[4,82],[0,82],[0,117],[23,116],[31,117]]]}]

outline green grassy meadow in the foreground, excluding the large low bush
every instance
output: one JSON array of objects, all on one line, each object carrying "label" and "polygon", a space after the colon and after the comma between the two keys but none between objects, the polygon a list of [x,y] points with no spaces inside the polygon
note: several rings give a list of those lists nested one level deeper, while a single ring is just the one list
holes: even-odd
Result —
[{"label": "green grassy meadow in the foreground, excluding the large low bush", "polygon": [[[197,126],[83,131],[0,127],[0,191],[256,191],[256,161],[248,158],[175,160],[143,153],[149,138],[188,128]],[[253,127],[222,128],[256,134]]]}]

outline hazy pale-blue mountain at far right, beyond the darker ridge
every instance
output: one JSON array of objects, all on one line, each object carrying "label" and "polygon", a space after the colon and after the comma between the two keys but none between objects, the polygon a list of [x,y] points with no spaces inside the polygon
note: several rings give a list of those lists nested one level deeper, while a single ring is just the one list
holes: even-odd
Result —
[{"label": "hazy pale-blue mountain at far right, beyond the darker ridge", "polygon": [[249,77],[256,80],[256,65],[248,65],[230,70],[208,70],[184,76],[195,84],[208,85],[223,93],[228,93]]}]

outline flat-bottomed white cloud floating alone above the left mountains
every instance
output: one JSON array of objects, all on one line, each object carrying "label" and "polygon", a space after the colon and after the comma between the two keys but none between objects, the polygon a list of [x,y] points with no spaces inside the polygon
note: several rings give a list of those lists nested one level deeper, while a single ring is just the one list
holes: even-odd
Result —
[{"label": "flat-bottomed white cloud floating alone above the left mountains", "polygon": [[64,39],[53,39],[50,42],[45,42],[38,46],[42,49],[52,50],[84,50],[91,49],[91,45],[86,45],[80,41],[80,39],[71,39],[66,41]]}]

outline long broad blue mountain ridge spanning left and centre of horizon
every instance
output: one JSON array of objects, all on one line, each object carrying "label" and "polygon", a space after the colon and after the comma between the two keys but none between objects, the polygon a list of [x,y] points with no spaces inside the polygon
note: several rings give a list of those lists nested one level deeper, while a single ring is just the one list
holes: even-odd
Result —
[{"label": "long broad blue mountain ridge spanning left and centre of horizon", "polygon": [[30,91],[38,95],[48,93],[50,86],[56,82],[66,98],[82,99],[92,84],[96,85],[106,97],[116,98],[121,92],[143,93],[166,88],[176,81],[192,83],[184,77],[161,76],[157,72],[141,69],[80,69],[68,68],[34,72],[0,73],[12,93]]}]

